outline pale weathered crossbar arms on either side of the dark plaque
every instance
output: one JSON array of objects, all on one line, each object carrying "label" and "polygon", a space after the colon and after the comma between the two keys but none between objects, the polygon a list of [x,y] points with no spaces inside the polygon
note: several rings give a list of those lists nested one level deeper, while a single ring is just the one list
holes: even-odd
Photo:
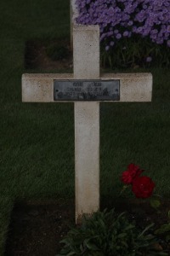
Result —
[{"label": "pale weathered crossbar arms on either side of the dark plaque", "polygon": [[[86,63],[85,63],[86,65]],[[76,77],[78,75],[75,75]],[[75,79],[73,74],[23,74],[23,102],[54,102],[54,79]],[[96,77],[96,79],[99,79]],[[120,102],[150,102],[151,73],[105,73],[100,79],[120,79]],[[65,101],[64,101],[65,102]]]}]

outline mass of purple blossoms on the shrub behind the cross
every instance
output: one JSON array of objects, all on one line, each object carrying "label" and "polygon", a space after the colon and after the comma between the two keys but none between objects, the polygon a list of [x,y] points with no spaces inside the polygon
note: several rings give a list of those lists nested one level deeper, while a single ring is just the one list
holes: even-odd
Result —
[{"label": "mass of purple blossoms on the shrub behind the cross", "polygon": [[[100,41],[109,50],[133,34],[170,47],[170,0],[77,0],[77,23],[99,25]],[[150,61],[150,59],[148,59]]]}]

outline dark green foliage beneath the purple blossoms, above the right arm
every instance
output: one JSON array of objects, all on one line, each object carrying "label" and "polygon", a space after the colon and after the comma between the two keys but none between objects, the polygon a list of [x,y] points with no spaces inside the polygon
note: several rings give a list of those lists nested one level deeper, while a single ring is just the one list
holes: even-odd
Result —
[{"label": "dark green foliage beneath the purple blossoms, above the right arm", "polygon": [[133,35],[122,38],[114,48],[105,50],[101,43],[101,65],[111,68],[169,67],[170,49],[164,44],[150,42],[148,38]]}]

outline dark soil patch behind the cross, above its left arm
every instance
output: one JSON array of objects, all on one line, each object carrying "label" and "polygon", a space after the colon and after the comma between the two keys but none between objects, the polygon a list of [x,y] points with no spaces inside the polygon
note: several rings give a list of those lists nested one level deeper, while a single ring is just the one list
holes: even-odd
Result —
[{"label": "dark soil patch behind the cross, above its left arm", "polygon": [[[57,53],[57,55],[56,55]],[[71,69],[73,67],[72,49],[69,40],[29,40],[26,42],[26,69]]]}]

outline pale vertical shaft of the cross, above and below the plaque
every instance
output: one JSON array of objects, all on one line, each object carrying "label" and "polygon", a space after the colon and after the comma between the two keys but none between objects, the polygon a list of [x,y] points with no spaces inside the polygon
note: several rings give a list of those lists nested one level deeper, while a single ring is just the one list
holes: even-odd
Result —
[{"label": "pale vertical shaft of the cross, above and below the plaque", "polygon": [[[99,79],[99,26],[73,29],[74,79]],[[99,209],[99,102],[75,102],[76,221]]]}]

